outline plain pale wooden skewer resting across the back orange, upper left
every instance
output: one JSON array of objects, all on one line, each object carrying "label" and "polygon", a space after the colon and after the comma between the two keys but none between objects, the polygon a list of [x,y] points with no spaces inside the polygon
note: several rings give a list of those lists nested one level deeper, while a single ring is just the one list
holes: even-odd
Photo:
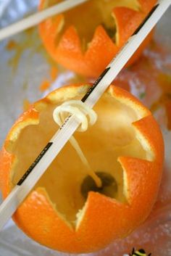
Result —
[{"label": "plain pale wooden skewer resting across the back orange, upper left", "polygon": [[12,25],[7,26],[7,28],[2,28],[0,30],[0,41],[4,38],[17,34],[22,30],[32,28],[43,20],[46,20],[51,16],[58,15],[59,13],[66,12],[68,9],[72,9],[73,7],[76,7],[79,4],[83,4],[86,1],[88,0],[65,0],[62,3],[54,5],[53,7],[49,7],[43,11],[36,12],[29,17],[26,17]]}]

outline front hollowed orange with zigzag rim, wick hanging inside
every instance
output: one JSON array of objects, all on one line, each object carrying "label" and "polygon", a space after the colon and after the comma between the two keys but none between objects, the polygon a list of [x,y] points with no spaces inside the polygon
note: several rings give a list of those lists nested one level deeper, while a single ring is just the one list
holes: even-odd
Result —
[{"label": "front hollowed orange with zigzag rim, wick hanging inside", "polygon": [[[59,88],[14,123],[1,150],[4,198],[57,131],[54,108],[81,99],[88,87]],[[101,190],[91,188],[87,170],[68,142],[13,216],[25,234],[62,252],[93,252],[128,236],[146,220],[159,190],[164,145],[151,112],[116,86],[109,86],[94,110],[95,125],[76,132],[75,138],[99,173]]]}]

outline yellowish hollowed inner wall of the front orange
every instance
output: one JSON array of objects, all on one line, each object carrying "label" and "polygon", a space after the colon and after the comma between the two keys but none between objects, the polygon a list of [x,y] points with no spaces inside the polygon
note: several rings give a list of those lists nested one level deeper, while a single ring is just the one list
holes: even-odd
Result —
[{"label": "yellowish hollowed inner wall of the front orange", "polygon": [[[24,128],[14,144],[12,152],[17,157],[17,163],[13,169],[13,186],[57,131],[57,124],[52,117],[55,107],[57,104],[48,104],[41,110],[40,123]],[[127,202],[123,192],[126,183],[123,184],[122,168],[117,158],[131,156],[146,159],[146,151],[136,139],[131,125],[139,117],[130,107],[108,94],[101,98],[94,110],[98,115],[96,124],[85,133],[75,133],[75,139],[78,140],[93,170],[110,173],[115,178],[118,186],[115,199]],[[85,165],[80,161],[75,149],[67,143],[36,184],[36,188],[46,189],[57,212],[73,227],[77,213],[86,202],[80,193],[86,173]]]}]

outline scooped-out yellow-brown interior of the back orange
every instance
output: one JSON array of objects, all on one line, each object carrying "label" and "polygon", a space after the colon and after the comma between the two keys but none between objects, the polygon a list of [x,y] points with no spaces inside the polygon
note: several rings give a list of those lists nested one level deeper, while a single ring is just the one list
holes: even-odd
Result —
[{"label": "scooped-out yellow-brown interior of the back orange", "polygon": [[[60,0],[47,0],[43,4],[43,8],[50,7],[61,2]],[[91,42],[94,31],[99,25],[103,25],[109,36],[115,40],[116,24],[112,17],[112,9],[114,7],[129,7],[139,10],[140,5],[136,0],[91,0],[80,6],[64,12],[59,27],[57,28],[57,43],[64,31],[73,25],[79,37],[81,38],[82,49],[87,49],[87,44]],[[58,17],[52,18],[53,21]]]}]

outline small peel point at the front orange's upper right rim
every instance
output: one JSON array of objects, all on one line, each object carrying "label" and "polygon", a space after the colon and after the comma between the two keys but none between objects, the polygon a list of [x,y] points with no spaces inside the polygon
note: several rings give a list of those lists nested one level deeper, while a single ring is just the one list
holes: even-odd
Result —
[{"label": "small peel point at the front orange's upper right rim", "polygon": [[159,125],[152,115],[143,117],[133,123],[138,141],[146,150],[146,158],[150,161],[157,161],[159,165],[164,159],[164,141]]}]

